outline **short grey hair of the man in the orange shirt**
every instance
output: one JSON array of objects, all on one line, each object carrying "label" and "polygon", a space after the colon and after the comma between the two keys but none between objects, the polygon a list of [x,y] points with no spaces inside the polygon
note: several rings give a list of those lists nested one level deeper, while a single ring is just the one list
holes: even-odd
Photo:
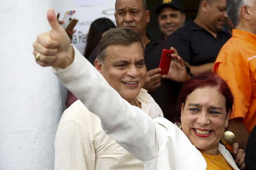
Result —
[{"label": "short grey hair of the man in the orange shirt", "polygon": [[252,6],[255,0],[228,0],[226,2],[226,11],[234,25],[240,23],[240,8],[242,6]]}]

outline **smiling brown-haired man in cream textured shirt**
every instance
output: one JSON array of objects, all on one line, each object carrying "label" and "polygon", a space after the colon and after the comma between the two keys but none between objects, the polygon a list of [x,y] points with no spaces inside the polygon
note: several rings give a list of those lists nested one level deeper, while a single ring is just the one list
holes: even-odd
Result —
[{"label": "smiling brown-haired man in cream textured shirt", "polygon": [[[163,117],[159,105],[142,88],[147,71],[141,36],[129,28],[118,29],[102,37],[98,49],[94,66],[123,99],[141,108],[151,118]],[[64,112],[59,122],[55,138],[55,169],[144,167],[110,138],[101,128],[100,118],[77,100]]]}]

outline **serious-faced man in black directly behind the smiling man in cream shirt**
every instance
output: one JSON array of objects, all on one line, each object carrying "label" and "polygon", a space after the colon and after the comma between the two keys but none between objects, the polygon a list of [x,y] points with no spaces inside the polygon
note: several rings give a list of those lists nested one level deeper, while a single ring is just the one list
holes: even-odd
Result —
[{"label": "serious-faced man in black directly behind the smiling man in cream shirt", "polygon": [[[150,11],[146,10],[145,0],[117,0],[115,2],[115,20],[117,27],[129,27],[142,36],[145,47],[144,59],[147,67],[146,82],[144,87],[154,98],[164,113],[164,117],[172,122],[179,120],[174,113],[177,93],[180,86],[169,78],[162,78],[159,69],[160,57],[163,49],[170,49],[166,42],[159,41],[147,35],[146,27],[150,21]],[[89,56],[89,61],[94,63],[97,56],[96,49]],[[177,79],[176,79],[177,80]],[[181,80],[183,81],[183,80]]]}]

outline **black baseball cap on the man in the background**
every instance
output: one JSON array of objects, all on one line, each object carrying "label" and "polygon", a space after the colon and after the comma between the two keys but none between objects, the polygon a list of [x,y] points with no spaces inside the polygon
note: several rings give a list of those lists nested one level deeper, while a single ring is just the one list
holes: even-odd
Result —
[{"label": "black baseball cap on the man in the background", "polygon": [[183,5],[180,0],[163,0],[161,5],[155,10],[156,14],[159,14],[160,11],[165,7],[172,7],[179,10],[181,13],[184,13]]}]

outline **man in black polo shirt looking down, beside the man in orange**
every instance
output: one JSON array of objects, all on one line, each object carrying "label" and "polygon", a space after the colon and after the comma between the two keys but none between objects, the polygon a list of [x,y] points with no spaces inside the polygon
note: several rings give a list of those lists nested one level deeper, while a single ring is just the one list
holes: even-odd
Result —
[{"label": "man in black polo shirt looking down, beside the man in orange", "polygon": [[218,52],[230,38],[222,31],[227,19],[226,0],[201,0],[196,19],[169,37],[194,75],[212,71]]}]

